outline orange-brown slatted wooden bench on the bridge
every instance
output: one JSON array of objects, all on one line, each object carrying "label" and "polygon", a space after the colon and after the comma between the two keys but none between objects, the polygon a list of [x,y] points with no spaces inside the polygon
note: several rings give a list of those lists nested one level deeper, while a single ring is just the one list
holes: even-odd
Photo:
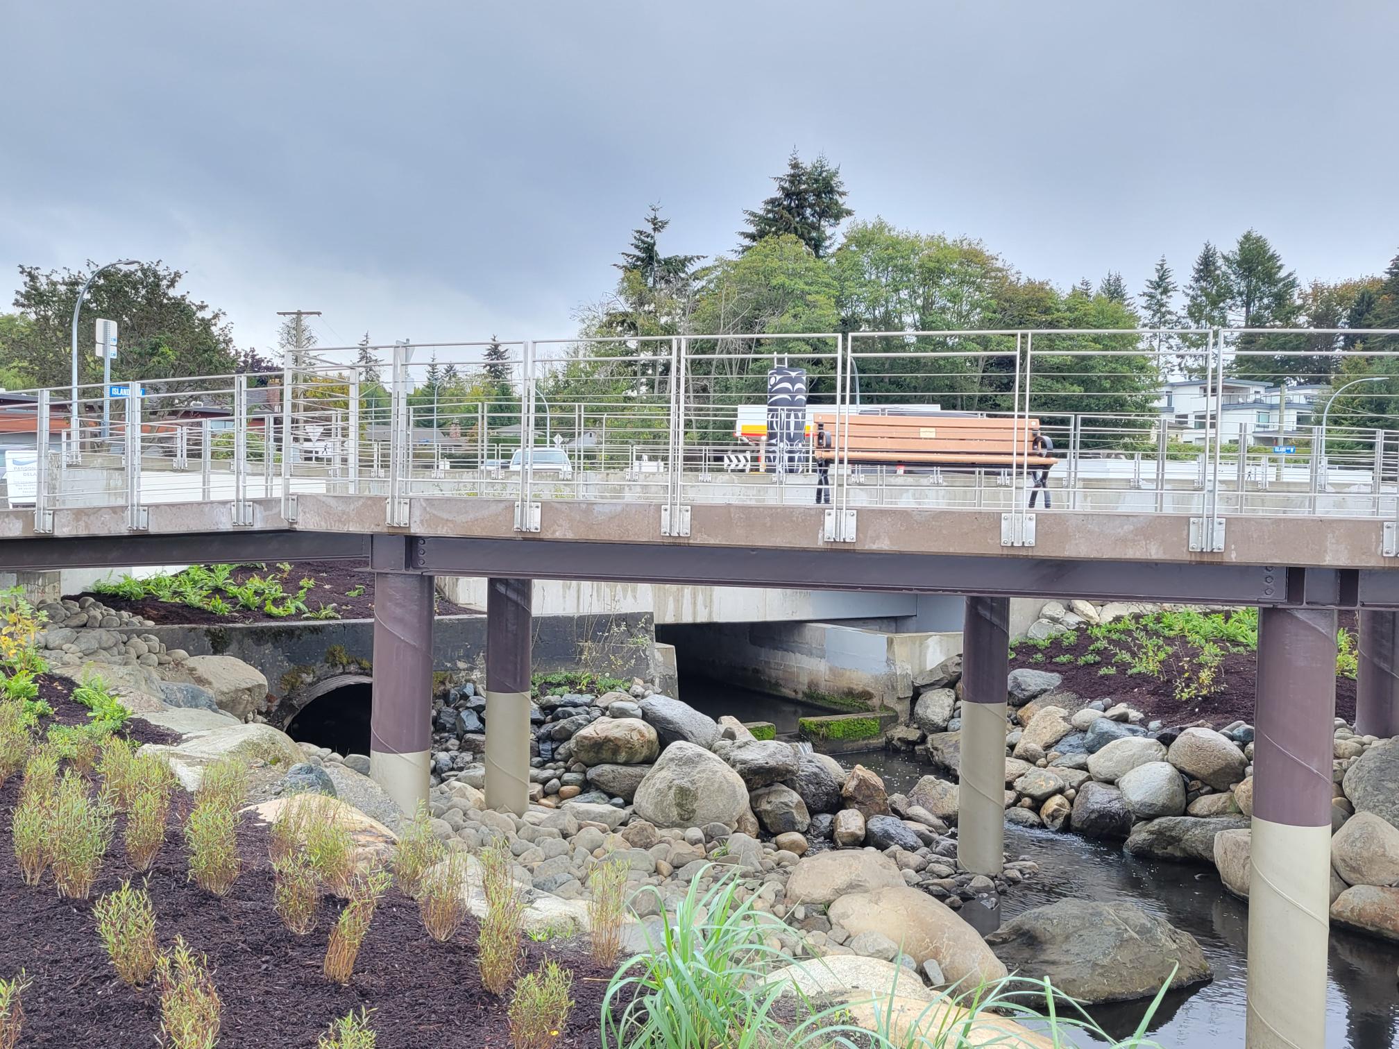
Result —
[{"label": "orange-brown slatted wooden bench on the bridge", "polygon": [[1031,450],[1039,420],[978,418],[974,415],[846,415],[842,438],[834,413],[816,414],[831,435],[831,448],[817,448],[817,459],[907,466],[990,467],[1024,466],[1048,470],[1052,456]]}]

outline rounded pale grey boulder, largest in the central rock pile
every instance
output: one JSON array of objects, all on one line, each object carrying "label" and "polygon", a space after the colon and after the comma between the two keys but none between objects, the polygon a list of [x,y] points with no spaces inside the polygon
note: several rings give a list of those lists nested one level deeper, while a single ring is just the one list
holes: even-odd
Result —
[{"label": "rounded pale grey boulder, largest in the central rock pile", "polygon": [[732,829],[748,811],[748,787],[722,758],[681,740],[660,752],[632,804],[637,815],[656,827],[723,824]]}]

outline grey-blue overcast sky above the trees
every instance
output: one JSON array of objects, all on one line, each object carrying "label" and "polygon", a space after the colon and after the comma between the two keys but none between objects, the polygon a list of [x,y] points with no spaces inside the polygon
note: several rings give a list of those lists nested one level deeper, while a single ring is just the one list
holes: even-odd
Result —
[{"label": "grey-blue overcast sky above the trees", "polygon": [[0,0],[14,267],[164,259],[239,345],[567,336],[646,206],[729,250],[792,147],[1060,285],[1399,250],[1392,0]]}]

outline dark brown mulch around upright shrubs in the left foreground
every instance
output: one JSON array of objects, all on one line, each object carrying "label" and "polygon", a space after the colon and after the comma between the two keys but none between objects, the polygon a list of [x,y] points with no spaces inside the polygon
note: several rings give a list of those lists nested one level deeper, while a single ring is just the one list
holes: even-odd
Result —
[{"label": "dark brown mulch around upright shrubs in the left foreground", "polygon": [[[20,778],[0,787],[0,821],[8,838]],[[179,831],[189,799],[180,796],[165,848],[150,873],[148,891],[162,944],[179,933],[208,955],[222,999],[221,1049],[312,1049],[336,1017],[375,1010],[381,1049],[418,1046],[508,1046],[505,1003],[487,993],[476,972],[476,926],[457,936],[428,939],[418,908],[389,890],[374,916],[348,986],[320,975],[326,937],[339,901],[326,898],[316,929],[292,936],[273,913],[273,873],[266,828],[239,831],[243,871],[218,899],[186,881],[187,856]],[[120,829],[92,899],[130,877]],[[525,965],[554,958],[574,971],[572,1018],[560,1046],[597,1046],[602,999],[610,973],[574,941],[525,941]],[[29,888],[20,880],[10,842],[0,856],[0,975],[28,971],[22,1046],[148,1049],[159,1031],[154,987],[132,989],[116,979],[98,940],[92,901],[59,899],[50,880]]]}]

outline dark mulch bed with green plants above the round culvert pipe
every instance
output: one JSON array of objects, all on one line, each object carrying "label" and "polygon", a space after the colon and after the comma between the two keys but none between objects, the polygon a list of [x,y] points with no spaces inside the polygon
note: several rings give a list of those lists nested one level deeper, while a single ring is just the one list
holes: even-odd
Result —
[{"label": "dark mulch bed with green plants above the round culvert pipe", "polygon": [[[266,579],[269,573],[280,573],[280,569],[273,564],[266,566],[242,565],[234,572],[234,579],[236,583],[242,585],[246,582],[248,576],[259,575]],[[295,593],[301,580],[308,576],[316,580],[315,587],[306,593],[306,607],[312,611],[320,606],[329,607],[333,604],[336,606],[336,611],[340,614],[341,620],[374,618],[374,572],[369,571],[369,564],[367,561],[298,561],[291,566],[291,572],[288,572],[283,580],[283,589]],[[350,597],[348,593],[358,587],[364,587],[364,593]],[[91,590],[81,594],[73,594],[74,600],[77,597],[92,597],[105,604],[108,608],[129,611],[133,615],[140,615],[144,620],[154,620],[158,624],[201,627],[228,622],[306,621],[301,617],[278,620],[277,617],[269,615],[262,610],[255,611],[248,608],[234,608],[228,615],[215,615],[206,608],[194,608],[187,604],[161,601],[155,597],[141,597],[133,601],[125,597],[118,597],[116,594],[92,593]],[[232,599],[227,596],[224,600],[228,601],[228,604],[234,604]],[[460,615],[471,610],[456,606],[445,597],[438,597],[436,611],[438,615]]]}]

